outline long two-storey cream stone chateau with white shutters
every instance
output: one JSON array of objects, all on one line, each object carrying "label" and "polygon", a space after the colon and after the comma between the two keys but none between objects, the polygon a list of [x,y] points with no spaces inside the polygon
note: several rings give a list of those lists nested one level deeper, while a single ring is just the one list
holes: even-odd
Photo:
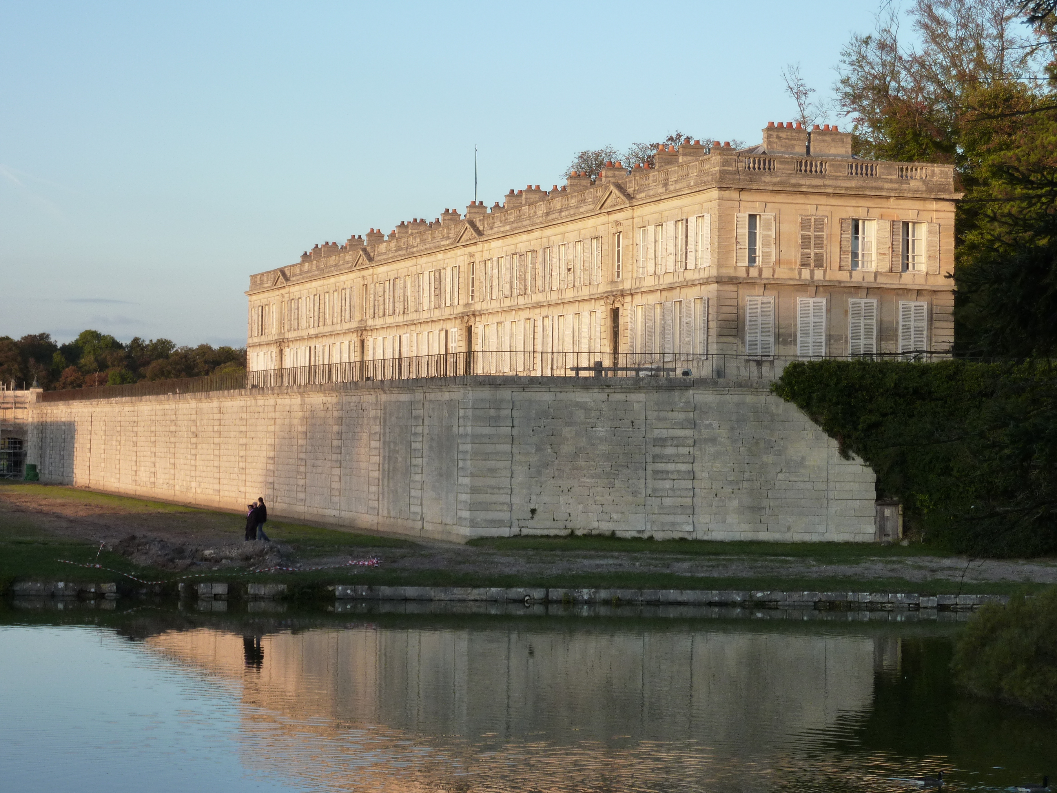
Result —
[{"label": "long two-storey cream stone chateau with white shutters", "polygon": [[316,245],[251,277],[249,369],[470,350],[519,353],[489,372],[524,374],[559,373],[559,352],[946,351],[953,168],[858,160],[851,137],[768,123],[741,150],[687,139],[653,168],[607,164],[490,210]]}]

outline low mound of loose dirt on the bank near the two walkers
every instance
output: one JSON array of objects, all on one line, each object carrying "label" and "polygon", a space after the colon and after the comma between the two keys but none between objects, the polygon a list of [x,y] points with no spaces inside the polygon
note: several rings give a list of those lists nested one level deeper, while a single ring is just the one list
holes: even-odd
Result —
[{"label": "low mound of loose dirt on the bank near the two walkers", "polygon": [[218,570],[222,568],[268,568],[279,565],[285,547],[278,542],[230,542],[198,546],[169,542],[147,534],[130,534],[113,545],[117,553],[142,567],[182,572],[188,568]]}]

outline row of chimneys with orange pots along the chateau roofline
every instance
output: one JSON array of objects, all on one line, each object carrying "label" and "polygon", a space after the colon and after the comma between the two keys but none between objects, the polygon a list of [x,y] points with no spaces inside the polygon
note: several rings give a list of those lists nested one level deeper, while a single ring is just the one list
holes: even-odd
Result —
[{"label": "row of chimneys with orange pots along the chateau roofline", "polygon": [[[800,122],[793,126],[793,122],[782,123],[778,122],[767,122],[768,129],[803,129]],[[837,125],[830,127],[829,124],[819,126],[815,125],[813,131],[826,131],[826,132],[837,132]],[[730,142],[724,141],[721,145],[719,141],[713,141],[711,145],[712,149],[727,149],[730,150]],[[687,137],[682,146],[675,147],[671,145],[659,144],[657,150],[653,153],[653,162],[655,163],[654,168],[668,168],[673,165],[679,165],[680,163],[685,163],[689,160],[694,160],[699,156],[703,156],[708,153],[708,149],[705,147],[701,141],[694,141],[690,143],[690,139]],[[635,165],[631,168],[630,172],[651,170],[649,164],[646,165]],[[567,189],[569,192],[578,192],[580,190],[586,190],[593,184],[606,183],[606,182],[618,182],[627,177],[629,173],[628,168],[624,167],[619,161],[613,162],[611,160],[606,162],[606,165],[598,171],[598,177],[592,180],[587,171],[573,171],[568,180],[567,184],[562,187],[554,185],[550,191],[541,190],[539,185],[535,187],[531,184],[525,185],[523,190],[514,191],[512,188],[508,193],[506,193],[506,200],[500,205],[497,201],[492,207],[493,213],[505,211],[506,209],[514,209],[519,206],[526,206],[528,204],[534,204],[537,201],[542,201],[545,198],[550,198],[558,195],[559,192],[564,192]],[[485,207],[483,201],[471,201],[466,207],[466,218],[481,217],[486,215],[489,210]],[[424,218],[412,218],[410,222],[401,221],[401,224],[396,226],[392,232],[389,233],[389,239],[395,239],[396,237],[403,237],[411,232],[421,232],[427,228],[435,228],[439,225],[452,223],[462,219],[456,209],[445,209],[440,218],[437,218],[432,223],[427,223]],[[366,235],[361,237],[352,236],[349,238],[345,245],[338,245],[336,242],[324,242],[322,245],[316,245],[312,251],[305,251],[301,254],[301,261],[311,261],[313,259],[321,259],[324,256],[334,256],[342,251],[358,251],[361,247],[368,245],[376,245],[379,242],[386,240],[386,235],[382,233],[382,229],[370,229]]]}]

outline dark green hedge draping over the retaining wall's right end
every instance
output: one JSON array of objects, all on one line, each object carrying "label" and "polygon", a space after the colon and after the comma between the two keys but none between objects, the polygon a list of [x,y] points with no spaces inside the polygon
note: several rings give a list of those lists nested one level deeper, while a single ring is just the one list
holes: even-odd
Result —
[{"label": "dark green hedge draping over the retaining wall's right end", "polygon": [[975,556],[1057,551],[1049,362],[796,362],[773,390],[869,463],[923,539]]}]

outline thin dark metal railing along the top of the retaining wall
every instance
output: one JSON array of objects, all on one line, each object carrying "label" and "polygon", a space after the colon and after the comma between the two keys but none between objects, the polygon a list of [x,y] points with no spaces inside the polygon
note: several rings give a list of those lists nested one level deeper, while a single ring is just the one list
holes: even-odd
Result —
[{"label": "thin dark metal railing along the top of the retaining wall", "polygon": [[[827,356],[836,359],[939,361],[949,353],[913,352],[855,356]],[[286,388],[331,383],[368,383],[429,377],[542,376],[542,377],[706,377],[771,382],[781,376],[794,361],[819,361],[800,355],[738,355],[711,353],[634,352],[522,352],[516,350],[449,352],[376,361],[315,364],[286,369],[264,369],[243,374],[185,377],[44,391],[42,402],[106,400],[122,396],[152,396],[174,393],[233,391],[245,388]]]}]

